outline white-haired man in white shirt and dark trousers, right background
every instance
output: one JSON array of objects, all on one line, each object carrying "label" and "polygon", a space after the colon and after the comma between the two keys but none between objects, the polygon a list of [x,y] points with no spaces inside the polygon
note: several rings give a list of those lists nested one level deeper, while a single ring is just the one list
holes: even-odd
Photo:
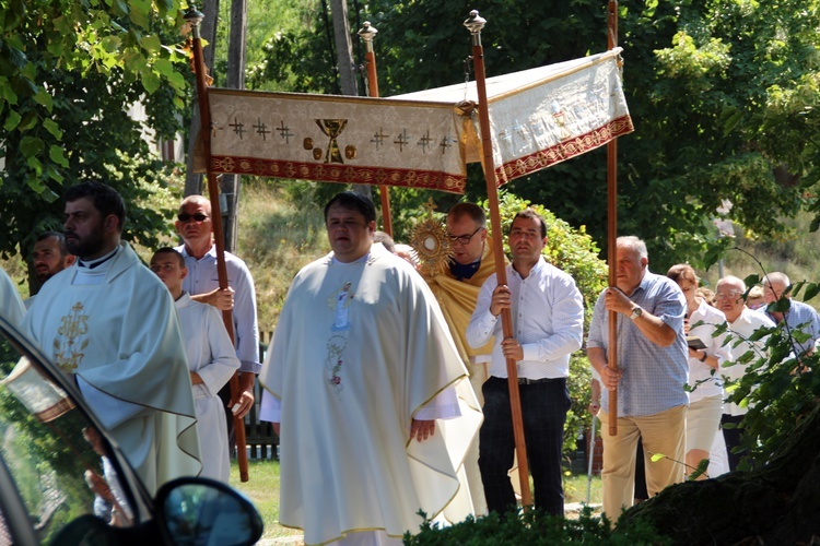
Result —
[{"label": "white-haired man in white shirt and dark trousers, right background", "polygon": [[[749,309],[743,302],[746,293],[746,283],[736,276],[725,276],[717,282],[715,286],[715,307],[723,311],[729,330],[735,334],[731,336],[728,346],[731,351],[731,364],[721,368],[721,372],[728,381],[739,381],[746,373],[749,364],[757,361],[758,357],[766,356],[766,337],[751,341],[752,334],[761,328],[774,328],[774,322],[762,312]],[[747,364],[742,364],[740,358],[753,352],[757,356]],[[726,441],[726,451],[729,458],[729,470],[737,468],[743,453],[733,453],[733,449],[740,446],[740,435],[742,429],[738,427],[747,408],[731,402],[724,404],[724,414],[721,418],[721,425],[728,423],[735,425],[733,428],[724,428],[723,436]]]}]

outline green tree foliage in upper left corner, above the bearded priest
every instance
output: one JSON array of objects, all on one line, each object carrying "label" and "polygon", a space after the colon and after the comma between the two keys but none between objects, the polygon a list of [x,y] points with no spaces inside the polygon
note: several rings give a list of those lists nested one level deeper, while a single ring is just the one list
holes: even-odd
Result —
[{"label": "green tree foliage in upper left corner, above the bearded priest", "polygon": [[[129,203],[126,237],[151,242],[162,212],[142,203],[167,173],[142,131],[179,127],[188,88],[176,46],[178,0],[2,0],[0,24],[0,252],[26,252],[60,224],[62,188],[108,182]],[[180,67],[178,69],[177,67]],[[141,124],[126,108],[142,99]]]}]

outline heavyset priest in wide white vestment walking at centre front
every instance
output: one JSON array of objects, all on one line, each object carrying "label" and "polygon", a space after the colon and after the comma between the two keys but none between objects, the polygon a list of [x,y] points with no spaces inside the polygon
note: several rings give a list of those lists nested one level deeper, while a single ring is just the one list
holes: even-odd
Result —
[{"label": "heavyset priest in wide white vestment walking at centre front", "polygon": [[373,204],[341,193],[325,218],[333,252],[291,284],[260,376],[280,522],[306,544],[400,544],[419,510],[472,513],[462,463],[481,413],[426,284],[371,248]]}]

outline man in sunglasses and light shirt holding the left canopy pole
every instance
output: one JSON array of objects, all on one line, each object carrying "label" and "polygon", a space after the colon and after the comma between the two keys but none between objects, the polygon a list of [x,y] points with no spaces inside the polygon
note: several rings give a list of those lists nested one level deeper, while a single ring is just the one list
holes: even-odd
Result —
[{"label": "man in sunglasses and light shirt holding the left canopy pole", "polygon": [[233,310],[234,345],[239,359],[239,387],[242,396],[233,408],[231,388],[223,387],[219,395],[225,404],[227,434],[233,446],[234,419],[243,418],[254,405],[254,382],[261,369],[259,363],[259,330],[256,322],[256,288],[245,262],[225,252],[227,269],[227,289],[220,289],[216,275],[216,246],[213,241],[213,223],[211,222],[211,201],[202,195],[189,195],[179,205],[177,221],[174,223],[184,245],[176,247],[185,258],[188,276],[183,289],[191,299],[209,304],[220,310]]}]

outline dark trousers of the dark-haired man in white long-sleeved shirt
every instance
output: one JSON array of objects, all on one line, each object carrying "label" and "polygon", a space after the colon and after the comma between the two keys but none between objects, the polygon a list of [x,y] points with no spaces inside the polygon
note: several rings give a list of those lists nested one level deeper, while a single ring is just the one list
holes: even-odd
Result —
[{"label": "dark trousers of the dark-haired man in white long-sleeved shirt", "polygon": [[[516,507],[507,471],[513,466],[515,436],[509,408],[509,390],[504,378],[490,377],[482,388],[484,423],[479,435],[479,470],[487,506],[504,512]],[[566,379],[519,385],[527,460],[532,474],[536,508],[563,515],[564,487],[561,451],[564,422],[570,410]]]}]

